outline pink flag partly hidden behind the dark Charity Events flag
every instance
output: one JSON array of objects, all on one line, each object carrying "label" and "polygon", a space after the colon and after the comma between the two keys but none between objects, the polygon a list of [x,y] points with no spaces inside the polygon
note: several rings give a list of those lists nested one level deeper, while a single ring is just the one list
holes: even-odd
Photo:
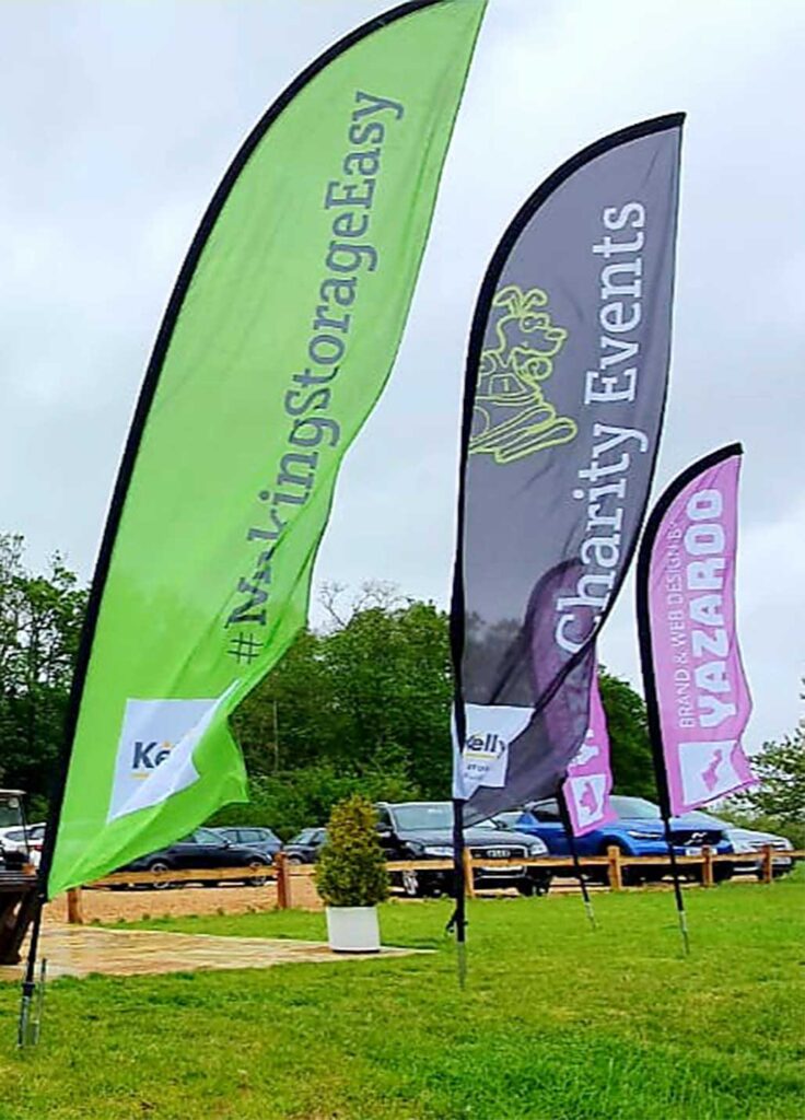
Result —
[{"label": "pink flag partly hidden behind the dark Charity Events flag", "polygon": [[612,791],[612,772],[609,765],[609,735],[607,717],[598,689],[598,673],[593,672],[590,685],[590,726],[583,744],[568,766],[563,792],[570,814],[573,836],[608,824],[616,819],[609,805]]}]

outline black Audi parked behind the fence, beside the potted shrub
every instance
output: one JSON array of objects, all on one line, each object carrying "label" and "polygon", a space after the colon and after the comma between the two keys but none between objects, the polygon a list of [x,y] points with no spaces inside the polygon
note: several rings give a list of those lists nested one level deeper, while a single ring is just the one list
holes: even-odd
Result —
[{"label": "black Audi parked behind the fence, beside the potted shrub", "polygon": [[[452,805],[449,801],[416,801],[377,809],[377,834],[390,860],[450,859],[452,857]],[[465,829],[465,840],[474,859],[532,858],[546,855],[545,843],[533,836],[502,830],[492,823]],[[551,886],[551,870],[545,867],[475,868],[475,885],[484,888],[516,887],[522,895],[544,895]],[[412,897],[451,893],[451,868],[393,871],[392,886],[402,887]]]}]

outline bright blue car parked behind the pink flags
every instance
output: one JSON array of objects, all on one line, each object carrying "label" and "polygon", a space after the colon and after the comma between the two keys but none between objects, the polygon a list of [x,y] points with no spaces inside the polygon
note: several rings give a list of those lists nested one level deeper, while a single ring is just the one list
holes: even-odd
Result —
[{"label": "bright blue car parked behind the pink flags", "polygon": [[[665,828],[657,805],[644,797],[610,797],[610,805],[618,819],[577,837],[579,856],[606,856],[607,849],[617,847],[624,856],[667,856]],[[525,809],[500,813],[495,818],[498,825],[527,832],[545,841],[553,856],[569,856],[570,842],[562,824],[559,805],[554,799],[535,801]],[[705,813],[689,813],[672,816],[671,834],[677,856],[700,856],[705,846],[719,855],[731,852],[732,847],[720,821]],[[686,874],[701,878],[701,866],[694,865]],[[667,866],[624,868],[625,881],[661,879],[667,875]],[[728,879],[732,875],[729,862],[713,867],[713,877]]]}]

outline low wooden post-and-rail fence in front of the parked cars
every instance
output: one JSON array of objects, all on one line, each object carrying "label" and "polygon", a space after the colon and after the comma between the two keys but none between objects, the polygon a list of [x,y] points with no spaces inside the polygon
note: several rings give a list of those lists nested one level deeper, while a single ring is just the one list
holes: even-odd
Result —
[{"label": "low wooden post-and-rail fence in front of the parked cars", "polygon": [[[703,848],[701,856],[677,856],[676,862],[682,867],[700,865],[702,868],[701,883],[703,887],[712,887],[715,881],[715,864],[757,864],[761,862],[762,883],[771,883],[774,878],[775,860],[779,859],[805,859],[805,851],[780,851],[766,844],[755,852],[726,852],[719,855],[712,848]],[[607,885],[610,890],[623,890],[624,868],[629,867],[670,867],[667,856],[625,856],[619,848],[607,849],[606,856],[584,856],[579,862],[582,868],[606,868]],[[453,865],[451,859],[399,859],[390,860],[386,865],[390,871],[442,871],[449,870]],[[478,867],[563,867],[572,868],[573,860],[564,856],[533,856],[523,859],[479,859],[474,857],[469,850],[465,851],[465,885],[467,894],[475,897],[475,869]],[[227,867],[210,870],[168,870],[168,871],[118,871],[114,875],[106,875],[103,879],[97,879],[88,885],[90,889],[96,887],[127,887],[127,886],[169,886],[172,883],[244,883],[250,879],[263,880],[264,883],[277,883],[277,906],[279,909],[289,909],[293,905],[292,880],[294,878],[309,879],[316,872],[315,865],[291,864],[284,852],[280,851],[274,857],[274,862],[268,867]],[[261,886],[258,883],[256,886]],[[82,905],[82,888],[74,887],[67,892],[67,921],[72,924],[81,925],[84,921]]]}]

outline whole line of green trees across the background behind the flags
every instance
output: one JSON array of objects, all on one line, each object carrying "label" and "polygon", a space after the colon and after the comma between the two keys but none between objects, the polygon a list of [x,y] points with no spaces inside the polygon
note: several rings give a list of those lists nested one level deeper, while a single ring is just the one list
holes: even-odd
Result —
[{"label": "whole line of green trees across the background behind the flags", "polygon": [[[37,816],[60,749],[85,607],[86,590],[62,558],[31,573],[22,539],[0,534],[0,784],[27,790]],[[382,582],[352,596],[325,585],[320,608],[322,625],[298,635],[235,715],[252,801],[226,806],[217,823],[266,824],[288,837],[326,821],[352,793],[449,796],[447,613]],[[643,699],[606,669],[600,688],[615,792],[655,800]],[[764,784],[733,806],[742,820],[786,834],[802,829],[804,735],[801,724],[756,756]]]}]

